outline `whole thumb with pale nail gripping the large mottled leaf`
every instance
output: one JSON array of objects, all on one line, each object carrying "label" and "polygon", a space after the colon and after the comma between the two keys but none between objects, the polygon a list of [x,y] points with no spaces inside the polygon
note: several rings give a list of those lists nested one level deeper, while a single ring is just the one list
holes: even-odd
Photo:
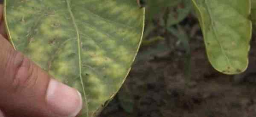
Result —
[{"label": "whole thumb with pale nail gripping the large mottled leaf", "polygon": [[56,80],[0,36],[0,110],[6,117],[75,117],[81,94]]}]

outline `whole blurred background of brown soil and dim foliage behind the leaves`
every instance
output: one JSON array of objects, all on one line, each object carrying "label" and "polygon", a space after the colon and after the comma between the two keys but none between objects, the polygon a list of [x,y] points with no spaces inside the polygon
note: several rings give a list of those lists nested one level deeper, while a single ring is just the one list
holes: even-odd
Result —
[{"label": "whole blurred background of brown soil and dim foliage behind the leaves", "polygon": [[207,60],[191,0],[144,0],[143,42],[100,117],[256,117],[256,44],[249,67],[225,75]]}]

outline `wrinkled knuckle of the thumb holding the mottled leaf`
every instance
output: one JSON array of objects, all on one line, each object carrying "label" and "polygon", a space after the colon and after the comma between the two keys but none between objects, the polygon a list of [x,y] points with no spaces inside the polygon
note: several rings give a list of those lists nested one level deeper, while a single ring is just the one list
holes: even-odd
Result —
[{"label": "wrinkled knuckle of the thumb holding the mottled leaf", "polygon": [[37,79],[36,68],[33,63],[20,52],[16,52],[13,57],[12,66],[12,87],[19,91],[34,86],[33,82]]}]

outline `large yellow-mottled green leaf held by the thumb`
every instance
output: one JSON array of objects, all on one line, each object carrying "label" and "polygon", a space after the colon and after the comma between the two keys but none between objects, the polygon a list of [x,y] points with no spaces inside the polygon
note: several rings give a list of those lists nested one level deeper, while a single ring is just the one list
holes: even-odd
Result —
[{"label": "large yellow-mottled green leaf held by the thumb", "polygon": [[122,86],[141,43],[136,0],[6,0],[13,46],[77,88],[80,117],[95,117]]}]

